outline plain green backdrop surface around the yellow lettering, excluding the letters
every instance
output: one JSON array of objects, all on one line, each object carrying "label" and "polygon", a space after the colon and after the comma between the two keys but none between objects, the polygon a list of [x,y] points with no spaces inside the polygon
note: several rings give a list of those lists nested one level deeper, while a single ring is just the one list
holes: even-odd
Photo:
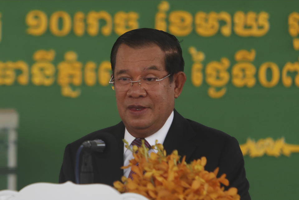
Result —
[{"label": "plain green backdrop surface around the yellow lettering, excluding the letters", "polygon": [[[82,37],[73,30],[64,37],[53,35],[49,28],[40,36],[29,35],[25,18],[31,10],[46,13],[48,19],[56,11],[73,15],[81,11],[116,12],[134,11],[139,14],[139,27],[155,27],[155,15],[160,1],[1,1],[0,13],[2,39],[0,41],[0,61],[24,61],[29,69],[35,63],[33,53],[40,49],[54,49],[56,67],[64,61],[64,53],[74,51],[83,66],[88,61],[97,63],[109,61],[110,50],[118,35],[104,36],[99,33]],[[244,144],[247,138],[258,141],[271,137],[285,138],[286,143],[299,144],[298,136],[298,87],[283,85],[280,79],[272,88],[262,86],[258,80],[258,69],[262,63],[273,62],[280,74],[287,62],[298,62],[299,53],[293,48],[293,37],[288,32],[288,16],[299,12],[299,1],[168,1],[172,11],[183,10],[194,16],[202,12],[228,12],[233,20],[234,13],[253,11],[267,12],[270,29],[261,37],[241,37],[234,33],[234,23],[229,37],[217,33],[211,37],[198,35],[194,29],[187,36],[178,36],[185,59],[187,81],[175,108],[185,118],[206,126],[220,129]],[[168,23],[168,19],[166,19]],[[114,26],[114,25],[113,25]],[[194,22],[192,23],[194,27]],[[205,53],[202,61],[204,81],[196,87],[191,81],[192,57],[188,48],[194,46]],[[232,84],[231,68],[237,63],[235,52],[240,49],[255,49],[255,60],[251,62],[257,69],[256,83],[252,88],[238,88]],[[222,57],[230,60],[227,72],[230,80],[227,91],[221,98],[211,98],[207,94],[209,85],[205,81],[205,66]],[[271,73],[267,71],[268,80]],[[296,73],[295,73],[296,74]],[[295,77],[292,74],[292,78]],[[84,80],[84,79],[83,79]],[[110,86],[97,83],[87,86],[84,81],[77,98],[64,97],[60,86],[36,86],[17,81],[11,86],[0,85],[0,108],[16,109],[20,115],[18,132],[18,189],[35,182],[58,182],[64,147],[74,140],[95,130],[114,125],[120,121],[116,109],[114,91]],[[298,196],[299,153],[273,157],[264,155],[251,158],[244,156],[247,178],[252,199],[296,199]],[[2,176],[0,176],[0,179]],[[0,188],[4,189],[4,188]]]}]

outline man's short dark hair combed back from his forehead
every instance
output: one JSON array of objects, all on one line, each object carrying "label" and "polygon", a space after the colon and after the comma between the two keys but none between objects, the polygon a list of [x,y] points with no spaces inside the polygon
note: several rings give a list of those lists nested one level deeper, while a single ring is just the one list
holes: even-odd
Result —
[{"label": "man's short dark hair combed back from his forehead", "polygon": [[[140,28],[130,30],[122,34],[114,43],[110,55],[113,74],[116,62],[116,53],[121,44],[126,44],[131,48],[156,44],[165,53],[165,69],[169,74],[173,75],[177,72],[184,71],[182,49],[178,39],[174,35],[162,30]],[[171,76],[170,80],[172,81],[172,79],[173,76]]]}]

